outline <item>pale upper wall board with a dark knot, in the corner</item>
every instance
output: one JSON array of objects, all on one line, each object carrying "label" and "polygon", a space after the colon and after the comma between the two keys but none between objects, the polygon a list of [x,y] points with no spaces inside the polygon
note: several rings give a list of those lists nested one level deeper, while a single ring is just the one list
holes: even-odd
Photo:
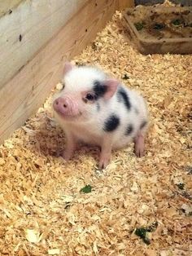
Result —
[{"label": "pale upper wall board with a dark knot, in the corner", "polygon": [[[32,0],[6,2],[0,18],[0,88],[33,58],[37,51],[88,0]],[[10,9],[9,9],[10,8]]]}]

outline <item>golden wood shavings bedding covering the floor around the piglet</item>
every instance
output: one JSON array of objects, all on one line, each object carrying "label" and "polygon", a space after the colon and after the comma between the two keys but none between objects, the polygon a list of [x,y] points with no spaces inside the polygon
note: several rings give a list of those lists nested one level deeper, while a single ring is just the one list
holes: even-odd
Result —
[{"label": "golden wood shavings bedding covering the floor around the piglet", "polygon": [[99,171],[98,149],[81,148],[66,163],[47,99],[0,148],[1,255],[192,254],[192,55],[141,55],[121,20],[116,12],[74,61],[100,64],[146,97],[146,156],[130,145]]}]

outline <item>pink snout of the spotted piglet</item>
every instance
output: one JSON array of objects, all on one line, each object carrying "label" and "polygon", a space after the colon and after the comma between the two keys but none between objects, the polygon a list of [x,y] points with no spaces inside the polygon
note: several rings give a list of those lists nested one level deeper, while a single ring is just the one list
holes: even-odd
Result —
[{"label": "pink snout of the spotted piglet", "polygon": [[59,97],[55,99],[53,108],[57,113],[63,116],[76,116],[79,113],[77,104],[69,97]]}]

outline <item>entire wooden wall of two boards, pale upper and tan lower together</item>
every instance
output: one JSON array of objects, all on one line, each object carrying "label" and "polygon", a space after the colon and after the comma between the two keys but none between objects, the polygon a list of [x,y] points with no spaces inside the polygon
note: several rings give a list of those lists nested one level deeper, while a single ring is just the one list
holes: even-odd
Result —
[{"label": "entire wooden wall of two boards, pale upper and tan lower together", "polygon": [[0,143],[24,124],[116,10],[133,0],[0,3]]}]

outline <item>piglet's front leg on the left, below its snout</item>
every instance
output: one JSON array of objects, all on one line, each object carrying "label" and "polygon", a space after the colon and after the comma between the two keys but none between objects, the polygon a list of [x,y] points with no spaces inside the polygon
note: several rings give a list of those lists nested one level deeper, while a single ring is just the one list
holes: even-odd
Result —
[{"label": "piglet's front leg on the left, below its snout", "polygon": [[68,161],[72,158],[74,151],[76,150],[76,138],[71,132],[66,132],[66,148],[63,152],[63,158]]}]

